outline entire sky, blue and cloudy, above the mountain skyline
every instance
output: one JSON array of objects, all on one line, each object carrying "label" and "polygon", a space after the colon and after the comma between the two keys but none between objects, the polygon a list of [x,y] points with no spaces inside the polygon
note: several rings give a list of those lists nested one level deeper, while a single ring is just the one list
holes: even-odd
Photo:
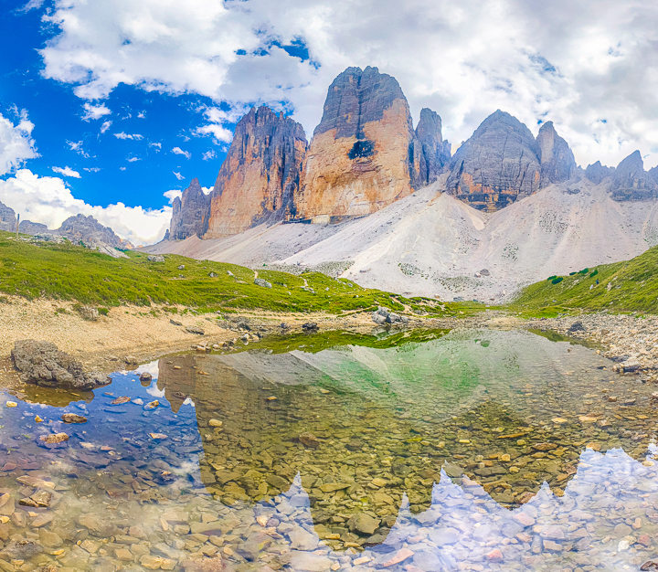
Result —
[{"label": "entire sky, blue and cloudy, above the mountain skyline", "polygon": [[658,164],[653,0],[5,0],[0,201],[164,235],[193,177],[214,184],[251,105],[310,136],[349,66],[398,79],[455,150],[490,113],[547,120],[578,164]]}]

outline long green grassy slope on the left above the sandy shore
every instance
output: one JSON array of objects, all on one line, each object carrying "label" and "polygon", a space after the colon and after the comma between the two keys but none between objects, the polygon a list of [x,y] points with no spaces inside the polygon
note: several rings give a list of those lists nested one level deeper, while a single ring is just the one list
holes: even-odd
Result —
[{"label": "long green grassy slope on the left above the sandy shore", "polygon": [[[254,284],[255,272],[235,264],[193,260],[166,255],[149,262],[147,255],[127,252],[130,258],[112,259],[80,246],[16,240],[0,232],[0,292],[28,299],[47,297],[83,304],[148,306],[183,304],[200,310],[238,309],[273,312],[348,312],[387,306],[405,306],[431,315],[468,311],[468,305],[451,304],[441,310],[429,298],[409,300],[396,294],[362,288],[347,280],[336,281],[318,272],[294,276],[258,270],[272,288]],[[179,266],[185,266],[180,269]],[[211,273],[216,276],[211,276]]]}]

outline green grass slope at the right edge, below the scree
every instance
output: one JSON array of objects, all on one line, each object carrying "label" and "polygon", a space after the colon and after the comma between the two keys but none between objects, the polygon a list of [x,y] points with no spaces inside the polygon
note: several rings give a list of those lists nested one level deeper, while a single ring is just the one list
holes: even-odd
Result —
[{"label": "green grass slope at the right edge, below the scree", "polygon": [[547,316],[574,309],[656,313],[658,247],[632,260],[536,282],[525,288],[510,307]]}]

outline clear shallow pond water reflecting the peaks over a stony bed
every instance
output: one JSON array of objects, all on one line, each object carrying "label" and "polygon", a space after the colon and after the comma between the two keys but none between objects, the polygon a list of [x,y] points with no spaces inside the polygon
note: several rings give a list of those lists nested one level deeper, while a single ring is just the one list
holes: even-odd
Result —
[{"label": "clear shallow pond water reflecting the peaks over a stony bed", "polygon": [[623,570],[655,555],[654,387],[595,351],[489,330],[249,348],[165,357],[86,395],[3,394],[0,569]]}]

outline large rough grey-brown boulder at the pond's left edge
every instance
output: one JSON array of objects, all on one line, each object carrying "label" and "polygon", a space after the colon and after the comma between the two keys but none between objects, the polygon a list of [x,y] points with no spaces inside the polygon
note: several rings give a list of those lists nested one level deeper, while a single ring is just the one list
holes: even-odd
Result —
[{"label": "large rough grey-brown boulder at the pond's left edge", "polygon": [[85,373],[82,364],[51,342],[18,340],[11,351],[24,383],[88,391],[111,383],[109,376]]}]

